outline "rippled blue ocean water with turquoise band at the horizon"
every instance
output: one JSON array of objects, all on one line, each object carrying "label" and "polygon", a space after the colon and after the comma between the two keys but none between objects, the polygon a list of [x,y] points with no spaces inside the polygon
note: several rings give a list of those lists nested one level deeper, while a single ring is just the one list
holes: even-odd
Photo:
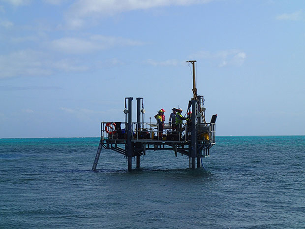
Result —
[{"label": "rippled blue ocean water with turquoise band at the horizon", "polygon": [[[1,229],[304,229],[305,136],[216,137],[206,168],[99,138],[0,139]],[[133,166],[135,166],[133,161]]]}]

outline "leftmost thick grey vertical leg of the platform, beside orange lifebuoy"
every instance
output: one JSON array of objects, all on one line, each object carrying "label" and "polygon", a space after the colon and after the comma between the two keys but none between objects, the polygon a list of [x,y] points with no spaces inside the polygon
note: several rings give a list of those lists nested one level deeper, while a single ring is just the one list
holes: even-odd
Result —
[{"label": "leftmost thick grey vertical leg of the platform, beside orange lifebuoy", "polygon": [[127,139],[126,139],[126,148],[127,148],[127,159],[128,159],[128,171],[132,170],[132,154],[133,154],[133,149],[132,149],[132,142],[131,142],[131,137],[132,137],[132,130],[131,130],[131,125],[132,125],[132,97],[128,98],[128,123],[127,123]]}]

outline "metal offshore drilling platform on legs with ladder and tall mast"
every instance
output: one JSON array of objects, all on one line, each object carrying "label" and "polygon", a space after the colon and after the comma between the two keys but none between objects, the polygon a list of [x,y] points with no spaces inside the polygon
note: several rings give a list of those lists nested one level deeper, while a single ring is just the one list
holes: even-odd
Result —
[{"label": "metal offshore drilling platform on legs with ladder and tall mast", "polygon": [[180,124],[178,128],[177,126],[173,128],[170,123],[145,123],[143,98],[136,98],[137,122],[132,122],[133,98],[125,98],[125,122],[101,123],[101,138],[92,170],[96,170],[102,149],[124,155],[128,161],[128,171],[132,170],[132,158],[136,158],[136,168],[140,168],[141,156],[146,155],[147,150],[172,150],[176,157],[178,153],[185,155],[189,158],[190,168],[196,168],[196,164],[200,167],[202,158],[210,156],[210,149],[215,144],[217,115],[214,114],[211,121],[206,122],[204,97],[197,95],[196,61],[187,61],[187,63],[192,65],[193,98],[188,101],[184,115],[186,123]]}]

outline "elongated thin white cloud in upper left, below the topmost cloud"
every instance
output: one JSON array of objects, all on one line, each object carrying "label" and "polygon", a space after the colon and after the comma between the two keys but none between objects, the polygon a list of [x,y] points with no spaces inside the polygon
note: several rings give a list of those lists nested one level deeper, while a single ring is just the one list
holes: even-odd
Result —
[{"label": "elongated thin white cloud in upper left, below the topmost cloud", "polygon": [[54,49],[66,53],[90,53],[118,46],[136,46],[141,44],[143,43],[139,41],[103,35],[92,35],[87,39],[64,37],[52,41]]}]

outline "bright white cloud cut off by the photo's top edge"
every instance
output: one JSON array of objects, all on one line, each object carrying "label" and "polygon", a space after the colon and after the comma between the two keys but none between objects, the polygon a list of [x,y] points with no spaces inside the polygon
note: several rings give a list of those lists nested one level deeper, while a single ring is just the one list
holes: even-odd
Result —
[{"label": "bright white cloud cut off by the photo's top edge", "polygon": [[77,0],[71,5],[67,15],[70,28],[84,25],[88,17],[109,16],[124,11],[143,10],[170,5],[191,5],[207,3],[212,0]]}]

